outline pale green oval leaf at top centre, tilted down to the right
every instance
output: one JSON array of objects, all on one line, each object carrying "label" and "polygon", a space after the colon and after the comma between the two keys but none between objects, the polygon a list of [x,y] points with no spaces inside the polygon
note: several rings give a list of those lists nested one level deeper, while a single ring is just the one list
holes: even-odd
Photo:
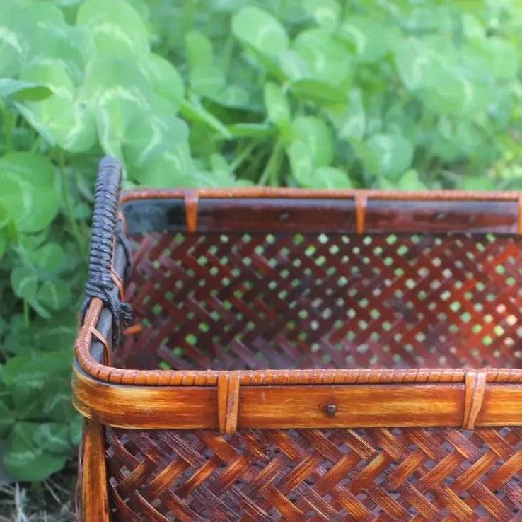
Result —
[{"label": "pale green oval leaf at top centre, tilted down to the right", "polygon": [[243,7],[233,16],[232,32],[245,45],[268,57],[277,57],[289,45],[281,23],[267,11],[254,6]]}]

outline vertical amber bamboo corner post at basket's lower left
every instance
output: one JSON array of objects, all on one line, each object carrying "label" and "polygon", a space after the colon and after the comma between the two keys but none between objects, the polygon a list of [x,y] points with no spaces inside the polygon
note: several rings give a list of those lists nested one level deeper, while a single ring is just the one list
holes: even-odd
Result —
[{"label": "vertical amber bamboo corner post at basket's lower left", "polygon": [[82,461],[79,522],[110,522],[103,426],[91,419],[85,422]]}]

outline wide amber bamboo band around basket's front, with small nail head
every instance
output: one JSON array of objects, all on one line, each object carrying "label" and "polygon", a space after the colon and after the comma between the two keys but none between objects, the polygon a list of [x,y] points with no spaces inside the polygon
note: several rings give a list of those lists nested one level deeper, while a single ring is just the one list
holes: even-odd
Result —
[{"label": "wide amber bamboo band around basket's front, with small nail head", "polygon": [[[234,429],[235,412],[229,409],[224,414],[228,400],[219,400],[217,386],[100,385],[77,368],[73,385],[76,409],[102,424],[129,429]],[[522,425],[520,385],[482,388],[482,407],[478,395],[469,400],[463,383],[239,386],[233,405],[238,406],[237,429],[462,427],[465,412],[467,426]],[[331,405],[335,408],[328,410]],[[227,417],[232,419],[228,426]]]}]

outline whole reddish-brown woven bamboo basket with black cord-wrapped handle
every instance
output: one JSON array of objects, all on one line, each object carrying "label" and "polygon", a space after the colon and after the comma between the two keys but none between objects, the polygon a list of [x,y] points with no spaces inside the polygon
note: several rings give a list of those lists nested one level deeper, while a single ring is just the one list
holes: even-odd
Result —
[{"label": "whole reddish-brown woven bamboo basket with black cord-wrapped handle", "polygon": [[83,522],[522,520],[518,194],[119,187],[105,158]]}]

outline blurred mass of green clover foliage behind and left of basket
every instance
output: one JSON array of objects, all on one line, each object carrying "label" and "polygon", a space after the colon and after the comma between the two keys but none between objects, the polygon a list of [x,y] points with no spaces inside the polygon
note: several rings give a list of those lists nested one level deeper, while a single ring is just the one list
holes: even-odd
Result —
[{"label": "blurred mass of green clover foliage behind and left of basket", "polygon": [[0,3],[0,441],[79,442],[69,369],[96,164],[127,187],[522,188],[522,2]]}]

